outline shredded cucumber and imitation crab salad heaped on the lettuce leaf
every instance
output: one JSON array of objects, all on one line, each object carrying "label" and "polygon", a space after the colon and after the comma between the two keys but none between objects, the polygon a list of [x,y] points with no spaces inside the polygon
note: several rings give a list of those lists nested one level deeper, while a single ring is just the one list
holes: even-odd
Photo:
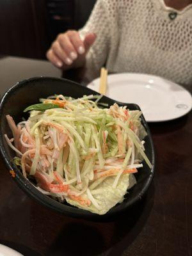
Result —
[{"label": "shredded cucumber and imitation crab salad heaped on the lettuce leaf", "polygon": [[138,172],[142,159],[152,167],[144,152],[141,111],[117,104],[99,108],[99,100],[93,95],[41,99],[25,110],[30,111],[26,121],[15,125],[7,115],[13,138],[4,134],[24,177],[33,176],[45,195],[87,210],[100,209],[95,191],[103,194],[109,177],[115,189],[122,176]]}]

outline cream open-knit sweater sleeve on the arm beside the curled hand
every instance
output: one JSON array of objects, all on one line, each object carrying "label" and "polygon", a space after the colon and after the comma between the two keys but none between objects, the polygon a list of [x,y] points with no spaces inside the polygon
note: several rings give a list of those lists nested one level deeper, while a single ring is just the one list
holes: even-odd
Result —
[{"label": "cream open-knit sweater sleeve on the arm beside the curled hand", "polygon": [[110,28],[107,7],[104,0],[97,0],[90,18],[79,31],[81,38],[84,38],[88,32],[97,35],[94,44],[86,55],[85,77],[89,80],[99,76],[100,68],[105,65],[108,57]]}]

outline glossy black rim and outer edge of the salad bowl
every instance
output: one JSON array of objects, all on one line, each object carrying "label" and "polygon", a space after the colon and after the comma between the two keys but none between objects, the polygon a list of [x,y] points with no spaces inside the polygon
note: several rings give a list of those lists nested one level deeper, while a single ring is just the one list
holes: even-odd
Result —
[{"label": "glossy black rim and outer edge of the salad bowl", "polygon": [[[54,80],[54,81],[65,81],[65,83],[70,83],[73,84],[74,86],[79,86],[82,88],[85,88],[85,86],[83,86],[82,84],[76,83],[74,81],[70,81],[68,79],[64,79],[64,78],[60,78],[60,77],[47,77],[47,76],[40,76],[40,77],[31,77],[29,79],[24,79],[16,84],[14,84],[10,89],[8,89],[3,97],[1,98],[1,102],[0,102],[0,120],[2,120],[2,109],[4,104],[6,104],[7,100],[9,99],[9,95],[17,92],[17,89],[20,87],[26,87],[28,82],[31,81],[40,81],[40,80]],[[90,88],[86,88],[86,90],[90,93],[95,93],[97,95],[100,95],[100,93],[97,93],[93,90],[91,90]],[[125,105],[132,105],[134,106],[136,109],[140,109],[140,107],[137,104],[132,104],[132,103],[125,103],[125,102],[117,102],[116,100],[110,99],[106,96],[104,96],[106,98],[106,100],[112,100],[113,102],[116,102],[117,104],[120,104],[122,106]],[[143,126],[145,127],[146,131],[147,131],[147,136],[148,136],[148,140],[149,140],[149,144],[151,147],[151,154],[152,154],[152,169],[151,172],[148,174],[147,177],[147,181],[145,182],[145,186],[143,187],[143,189],[140,191],[139,195],[134,196],[134,198],[132,198],[131,200],[128,200],[127,204],[124,204],[124,207],[120,207],[121,204],[119,204],[118,206],[114,206],[113,208],[111,208],[108,212],[106,212],[106,214],[103,215],[99,215],[99,214],[95,214],[92,213],[90,211],[86,211],[83,209],[79,209],[76,208],[72,205],[65,205],[62,204],[54,199],[52,199],[49,196],[44,195],[43,193],[41,193],[40,191],[38,191],[38,189],[36,189],[36,187],[26,178],[24,178],[24,176],[22,175],[22,172],[20,172],[19,168],[15,168],[15,164],[12,163],[11,159],[8,157],[8,154],[6,153],[6,150],[4,149],[3,146],[3,134],[0,133],[0,150],[1,150],[1,156],[3,156],[3,160],[6,164],[6,167],[8,168],[8,170],[14,170],[15,171],[15,182],[17,182],[17,184],[19,185],[19,187],[25,192],[27,193],[31,198],[34,198],[36,200],[36,202],[39,202],[42,205],[45,205],[46,207],[49,207],[49,209],[52,209],[54,211],[58,211],[61,212],[62,214],[66,214],[67,216],[70,217],[74,217],[74,218],[85,218],[85,219],[90,219],[90,220],[102,220],[102,219],[106,219],[108,217],[113,217],[116,214],[119,214],[120,212],[125,211],[128,207],[131,207],[132,205],[136,204],[136,202],[138,202],[139,200],[141,200],[141,198],[143,198],[143,196],[145,195],[145,193],[147,192],[152,179],[154,177],[154,170],[155,170],[155,151],[154,151],[154,143],[152,141],[152,136],[148,127],[147,122],[145,121],[145,118],[143,116],[143,114],[141,115],[141,120],[143,123]]]}]

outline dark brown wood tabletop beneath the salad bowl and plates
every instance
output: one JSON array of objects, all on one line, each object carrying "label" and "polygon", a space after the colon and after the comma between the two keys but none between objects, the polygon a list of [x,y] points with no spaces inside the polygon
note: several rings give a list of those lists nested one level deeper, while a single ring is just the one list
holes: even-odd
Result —
[{"label": "dark brown wood tabletop beneath the salad bowl and plates", "polygon": [[[50,63],[33,61],[0,59],[0,67],[6,64],[0,68],[1,93],[18,79],[61,76]],[[68,218],[47,209],[17,186],[0,159],[0,243],[27,256],[191,256],[192,113],[149,126],[154,180],[145,198],[115,221]]]}]

